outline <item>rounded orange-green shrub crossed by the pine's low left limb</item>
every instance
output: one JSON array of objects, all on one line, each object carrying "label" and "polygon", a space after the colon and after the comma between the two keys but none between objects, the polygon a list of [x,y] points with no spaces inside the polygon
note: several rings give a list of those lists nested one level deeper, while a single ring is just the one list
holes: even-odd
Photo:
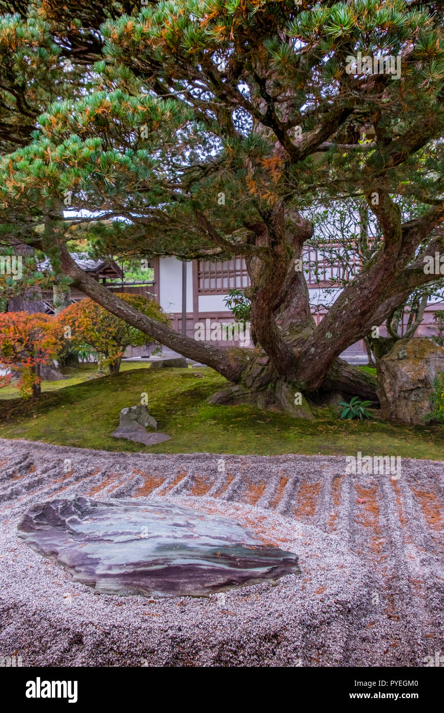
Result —
[{"label": "rounded orange-green shrub crossed by the pine's low left limb", "polygon": [[[118,297],[150,319],[161,324],[170,323],[167,314],[152,299],[126,293],[118,294]],[[90,347],[98,355],[99,369],[108,366],[110,374],[118,374],[127,347],[154,343],[154,339],[115,317],[92,299],[81,299],[66,307],[57,315],[56,322],[70,349]]]}]

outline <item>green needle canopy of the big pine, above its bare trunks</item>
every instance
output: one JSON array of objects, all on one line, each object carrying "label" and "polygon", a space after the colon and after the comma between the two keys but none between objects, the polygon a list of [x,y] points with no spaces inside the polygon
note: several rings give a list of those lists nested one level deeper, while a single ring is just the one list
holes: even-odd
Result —
[{"label": "green needle canopy of the big pine, above its bare trunks", "polygon": [[[401,78],[347,73],[358,51],[401,54]],[[52,267],[30,257],[21,285],[0,276],[6,297],[63,285],[61,242],[224,259],[277,200],[313,217],[383,184],[413,218],[443,201],[432,3],[0,2],[0,75],[0,250],[25,244]],[[361,139],[368,125],[377,147]]]}]

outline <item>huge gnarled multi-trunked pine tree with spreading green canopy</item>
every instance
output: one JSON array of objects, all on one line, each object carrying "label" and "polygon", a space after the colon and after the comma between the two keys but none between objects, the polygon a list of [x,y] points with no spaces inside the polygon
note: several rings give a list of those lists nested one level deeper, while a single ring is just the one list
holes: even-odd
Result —
[{"label": "huge gnarled multi-trunked pine tree with spreading green canopy", "polygon": [[[0,46],[1,135],[16,147],[0,162],[1,240],[43,250],[95,302],[237,384],[218,402],[295,413],[295,391],[376,399],[338,357],[432,281],[422,258],[443,247],[440,4],[3,6],[19,14],[4,15]],[[358,52],[400,58],[401,76],[360,72]],[[351,198],[366,201],[380,246],[316,327],[301,252],[314,206]],[[70,239],[125,258],[244,255],[256,349],[145,316],[78,268]]]}]

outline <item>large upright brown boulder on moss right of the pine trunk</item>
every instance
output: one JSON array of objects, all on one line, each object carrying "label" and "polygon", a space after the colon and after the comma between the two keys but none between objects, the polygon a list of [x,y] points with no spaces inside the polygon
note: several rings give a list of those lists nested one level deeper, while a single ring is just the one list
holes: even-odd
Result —
[{"label": "large upright brown boulder on moss right of the pine trunk", "polygon": [[433,410],[436,374],[444,371],[444,349],[430,339],[400,339],[378,359],[381,417],[403,424],[423,424]]}]

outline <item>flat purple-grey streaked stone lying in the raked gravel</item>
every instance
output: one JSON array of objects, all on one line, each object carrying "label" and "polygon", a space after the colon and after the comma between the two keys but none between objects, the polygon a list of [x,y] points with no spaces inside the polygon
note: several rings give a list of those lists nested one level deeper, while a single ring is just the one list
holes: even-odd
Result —
[{"label": "flat purple-grey streaked stone lying in the raked gravel", "polygon": [[38,503],[18,535],[98,593],[197,597],[300,571],[296,555],[234,520],[163,500]]}]

